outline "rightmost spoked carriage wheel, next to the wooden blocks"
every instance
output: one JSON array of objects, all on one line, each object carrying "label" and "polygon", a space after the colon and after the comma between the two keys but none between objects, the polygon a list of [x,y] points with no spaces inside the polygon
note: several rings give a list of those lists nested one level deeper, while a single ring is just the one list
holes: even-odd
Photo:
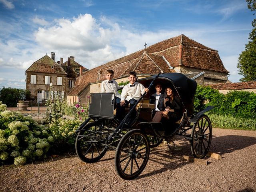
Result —
[{"label": "rightmost spoked carriage wheel, next to the wooden blocks", "polygon": [[212,124],[208,116],[201,116],[193,125],[191,152],[196,158],[204,158],[209,151],[212,141]]}]

